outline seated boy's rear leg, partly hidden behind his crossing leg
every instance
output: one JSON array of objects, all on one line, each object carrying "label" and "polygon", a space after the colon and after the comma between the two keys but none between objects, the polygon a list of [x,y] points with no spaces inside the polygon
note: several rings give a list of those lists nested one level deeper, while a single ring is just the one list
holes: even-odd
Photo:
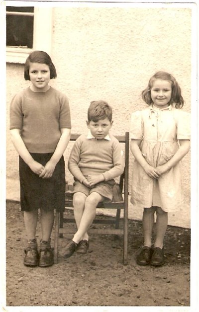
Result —
[{"label": "seated boy's rear leg, partly hidden behind his crossing leg", "polygon": [[[87,196],[84,193],[78,192],[73,196],[73,207],[74,207],[74,217],[77,225],[77,229],[79,229],[80,222],[84,213],[85,201]],[[89,240],[89,235],[86,232],[81,239]]]}]

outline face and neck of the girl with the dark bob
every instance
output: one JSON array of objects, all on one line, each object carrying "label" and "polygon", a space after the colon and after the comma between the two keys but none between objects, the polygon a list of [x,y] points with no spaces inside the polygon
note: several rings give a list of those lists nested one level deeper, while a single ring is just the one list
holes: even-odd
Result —
[{"label": "face and neck of the girl with the dark bob", "polygon": [[30,63],[29,68],[31,90],[34,92],[45,92],[49,89],[50,69],[46,64]]}]

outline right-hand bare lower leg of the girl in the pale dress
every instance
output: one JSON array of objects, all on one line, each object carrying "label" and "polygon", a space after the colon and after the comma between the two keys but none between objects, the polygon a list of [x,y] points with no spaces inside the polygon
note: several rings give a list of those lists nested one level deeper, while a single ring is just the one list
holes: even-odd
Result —
[{"label": "right-hand bare lower leg of the girl in the pale dress", "polygon": [[156,239],[154,247],[159,247],[162,249],[163,240],[167,231],[168,213],[163,211],[160,207],[156,207],[156,215]]}]

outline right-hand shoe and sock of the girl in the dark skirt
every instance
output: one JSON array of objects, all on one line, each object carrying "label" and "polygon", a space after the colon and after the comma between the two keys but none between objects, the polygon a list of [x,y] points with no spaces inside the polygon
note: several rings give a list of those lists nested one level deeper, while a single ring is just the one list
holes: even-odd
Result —
[{"label": "right-hand shoe and sock of the girl in the dark skirt", "polygon": [[49,241],[40,241],[39,266],[47,267],[54,263],[54,255]]}]

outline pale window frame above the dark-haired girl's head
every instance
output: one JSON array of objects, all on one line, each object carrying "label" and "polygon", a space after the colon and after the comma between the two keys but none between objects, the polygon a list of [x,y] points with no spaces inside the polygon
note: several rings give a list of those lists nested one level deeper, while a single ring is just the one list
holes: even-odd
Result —
[{"label": "pale window frame above the dark-haired girl's head", "polygon": [[34,6],[33,48],[6,46],[6,62],[24,64],[34,50],[51,54],[52,48],[52,7]]}]

